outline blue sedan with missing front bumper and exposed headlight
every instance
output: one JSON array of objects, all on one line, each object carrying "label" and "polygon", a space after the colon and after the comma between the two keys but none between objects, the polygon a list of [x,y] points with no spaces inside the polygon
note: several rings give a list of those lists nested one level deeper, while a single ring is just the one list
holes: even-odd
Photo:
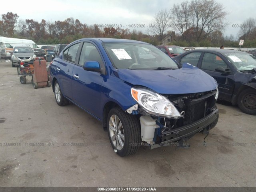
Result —
[{"label": "blue sedan with missing front bumper and exposed headlight", "polygon": [[184,141],[218,122],[217,83],[202,70],[180,68],[151,44],[84,38],[69,44],[50,65],[59,106],[76,104],[102,122],[114,152]]}]

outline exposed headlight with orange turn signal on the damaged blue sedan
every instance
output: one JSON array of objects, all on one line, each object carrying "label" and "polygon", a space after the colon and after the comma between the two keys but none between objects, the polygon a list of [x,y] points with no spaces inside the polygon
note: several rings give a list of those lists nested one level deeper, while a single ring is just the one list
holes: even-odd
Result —
[{"label": "exposed headlight with orange turn signal on the damaged blue sedan", "polygon": [[180,112],[164,96],[143,87],[131,88],[132,98],[148,114],[167,118],[180,118]]}]

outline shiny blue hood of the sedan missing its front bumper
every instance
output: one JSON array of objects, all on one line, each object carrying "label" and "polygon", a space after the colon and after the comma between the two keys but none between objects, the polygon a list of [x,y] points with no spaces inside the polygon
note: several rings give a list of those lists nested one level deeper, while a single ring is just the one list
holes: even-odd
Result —
[{"label": "shiny blue hood of the sedan missing its front bumper", "polygon": [[210,75],[190,64],[176,70],[119,69],[120,79],[150,88],[160,94],[189,94],[215,90],[217,83]]}]

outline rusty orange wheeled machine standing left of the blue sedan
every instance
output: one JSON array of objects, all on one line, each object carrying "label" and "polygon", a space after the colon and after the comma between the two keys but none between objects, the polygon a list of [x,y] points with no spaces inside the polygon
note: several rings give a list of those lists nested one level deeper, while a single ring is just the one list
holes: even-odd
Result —
[{"label": "rusty orange wheeled machine standing left of the blue sedan", "polygon": [[35,58],[34,62],[24,64],[20,62],[17,68],[21,84],[26,84],[26,76],[32,76],[32,84],[35,89],[41,87],[50,87],[48,72],[46,70],[46,60],[44,58]]}]

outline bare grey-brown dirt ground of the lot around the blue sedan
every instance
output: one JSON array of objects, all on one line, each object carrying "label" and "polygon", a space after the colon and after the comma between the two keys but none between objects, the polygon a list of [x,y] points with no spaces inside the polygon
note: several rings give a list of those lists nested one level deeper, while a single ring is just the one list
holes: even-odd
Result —
[{"label": "bare grey-brown dirt ground of the lot around the blue sedan", "polygon": [[58,106],[52,87],[34,89],[31,77],[21,84],[1,62],[0,186],[256,186],[256,116],[217,105],[206,147],[197,134],[190,148],[122,158],[100,122],[74,104]]}]

